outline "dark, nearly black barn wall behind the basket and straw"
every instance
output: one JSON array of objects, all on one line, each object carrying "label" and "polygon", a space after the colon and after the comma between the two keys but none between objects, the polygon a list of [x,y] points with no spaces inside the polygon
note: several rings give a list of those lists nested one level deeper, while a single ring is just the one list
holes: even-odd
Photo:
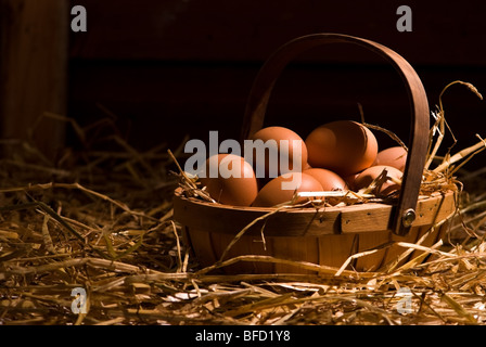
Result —
[{"label": "dark, nearly black barn wall behind the basket and straw", "polygon": [[[21,2],[29,1],[3,0],[3,28],[12,31],[15,27],[18,9],[5,9]],[[246,98],[265,60],[286,41],[315,33],[359,36],[395,50],[418,72],[431,110],[443,88],[457,79],[486,93],[486,3],[481,1],[40,2],[51,3],[44,18],[56,18],[67,10],[65,22],[57,24],[57,30],[67,26],[63,41],[66,65],[61,66],[66,82],[64,93],[59,93],[64,102],[52,110],[49,104],[34,107],[30,112],[37,114],[30,118],[3,110],[5,138],[25,136],[31,119],[51,111],[82,127],[110,119],[141,151],[161,143],[177,147],[184,136],[207,141],[209,130],[219,130],[220,140],[238,139]],[[87,33],[69,29],[74,17],[69,11],[75,4],[87,10]],[[396,29],[400,17],[396,11],[401,4],[412,10],[411,33]],[[56,16],[52,7],[62,8]],[[53,49],[56,41],[52,40],[46,49]],[[2,56],[9,54],[4,43],[2,47]],[[5,61],[3,77],[15,79]],[[26,79],[31,85],[33,79]],[[49,83],[50,79],[42,80]],[[3,83],[2,95],[11,100],[8,86]],[[303,54],[283,72],[266,120],[305,137],[327,121],[359,120],[360,103],[368,123],[385,127],[407,142],[408,102],[397,73],[381,57],[361,48],[332,44]],[[475,133],[486,137],[485,101],[455,86],[444,97],[444,105],[460,149],[477,142]],[[60,130],[59,124],[49,121],[38,134],[47,151],[79,145],[69,123],[62,123]],[[53,129],[62,136],[53,137]],[[383,146],[391,144],[382,138]],[[484,155],[477,160],[484,160]]]}]

